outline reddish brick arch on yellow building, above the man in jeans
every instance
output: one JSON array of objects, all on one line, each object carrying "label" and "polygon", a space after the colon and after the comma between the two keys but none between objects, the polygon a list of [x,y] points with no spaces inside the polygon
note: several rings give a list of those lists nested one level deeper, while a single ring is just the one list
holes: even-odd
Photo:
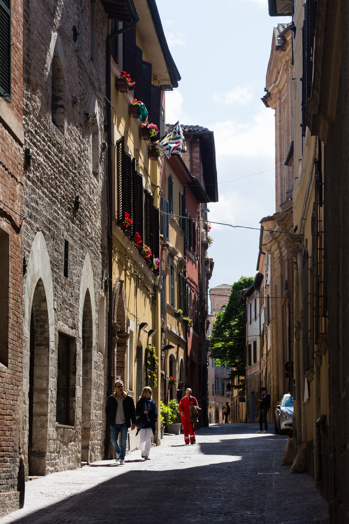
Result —
[{"label": "reddish brick arch on yellow building, above the man in jeans", "polygon": [[124,384],[127,377],[127,347],[129,334],[126,325],[126,297],[123,280],[117,276],[112,287],[112,347],[114,378],[119,376]]}]

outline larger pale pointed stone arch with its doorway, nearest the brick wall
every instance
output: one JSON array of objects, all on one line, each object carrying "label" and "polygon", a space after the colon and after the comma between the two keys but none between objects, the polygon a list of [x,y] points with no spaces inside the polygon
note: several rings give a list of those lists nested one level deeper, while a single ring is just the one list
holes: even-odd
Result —
[{"label": "larger pale pointed stone arch with its doorway, nearest the brick wall", "polygon": [[[45,475],[48,428],[54,425],[54,308],[50,258],[37,233],[28,260],[24,291],[24,454],[30,473]],[[30,446],[30,449],[29,449]]]}]

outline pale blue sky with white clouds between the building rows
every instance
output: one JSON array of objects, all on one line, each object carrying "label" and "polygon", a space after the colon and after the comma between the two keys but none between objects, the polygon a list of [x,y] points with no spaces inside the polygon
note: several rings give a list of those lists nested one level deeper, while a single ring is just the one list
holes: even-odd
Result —
[{"label": "pale blue sky with white clouds between the building rows", "polygon": [[156,5],[182,77],[178,88],[166,92],[166,124],[179,120],[215,136],[219,201],[208,204],[208,256],[215,263],[209,288],[232,284],[255,276],[260,220],[278,211],[274,110],[261,97],[273,27],[290,17],[269,17],[267,0]]}]

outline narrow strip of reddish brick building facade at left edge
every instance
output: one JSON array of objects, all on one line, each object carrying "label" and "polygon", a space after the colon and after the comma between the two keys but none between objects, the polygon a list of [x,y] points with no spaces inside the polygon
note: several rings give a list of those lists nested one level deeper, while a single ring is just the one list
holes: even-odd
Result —
[{"label": "narrow strip of reddish brick building facade at left edge", "polygon": [[[0,6],[0,517],[24,504],[22,4]],[[15,45],[12,45],[15,42]]]}]

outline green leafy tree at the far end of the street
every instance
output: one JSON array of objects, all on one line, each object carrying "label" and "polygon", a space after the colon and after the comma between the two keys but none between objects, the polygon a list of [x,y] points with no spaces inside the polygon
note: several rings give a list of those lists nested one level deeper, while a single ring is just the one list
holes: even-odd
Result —
[{"label": "green leafy tree at the far end of the street", "polygon": [[224,311],[219,311],[213,322],[210,336],[210,357],[217,366],[231,367],[230,378],[238,377],[235,389],[245,386],[244,348],[246,342],[245,304],[241,303],[241,291],[249,288],[254,277],[241,277],[231,287],[231,294]]}]

